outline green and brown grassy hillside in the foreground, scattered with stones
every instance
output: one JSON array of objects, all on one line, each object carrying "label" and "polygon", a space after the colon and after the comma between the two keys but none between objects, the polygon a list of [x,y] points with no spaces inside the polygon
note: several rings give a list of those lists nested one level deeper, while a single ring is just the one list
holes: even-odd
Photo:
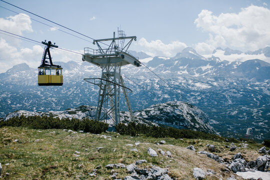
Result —
[{"label": "green and brown grassy hillside in the foreground, scattered with stones", "polygon": [[[247,148],[237,148],[231,152],[224,145],[228,142],[215,142],[200,139],[152,138],[138,135],[135,137],[109,132],[101,134],[72,133],[61,129],[29,129],[25,127],[0,128],[0,163],[3,179],[111,179],[111,169],[106,169],[109,163],[135,163],[138,159],[146,159],[140,167],[150,167],[151,164],[167,168],[169,175],[176,179],[194,179],[192,169],[200,167],[204,171],[211,169],[216,173],[206,179],[226,179],[233,173],[224,172],[225,166],[217,161],[198,154],[185,147],[192,144],[195,149],[207,150],[206,144],[214,144],[218,152],[215,154],[230,159],[235,153],[241,152],[245,159],[253,160],[259,155],[259,144],[249,144]],[[17,139],[16,142],[14,140]],[[156,144],[165,140],[165,144]],[[135,145],[135,142],[140,142]],[[133,146],[128,146],[132,144]],[[97,147],[103,147],[97,149]],[[158,148],[169,150],[172,158],[158,153],[157,157],[147,154],[151,147],[158,153]],[[136,148],[138,152],[131,151]],[[74,153],[80,152],[79,154]],[[77,156],[79,155],[79,156]],[[97,169],[96,177],[88,172]],[[123,179],[129,175],[125,168],[115,168],[117,178]],[[7,175],[8,173],[9,175]],[[241,179],[241,178],[237,178]]]}]

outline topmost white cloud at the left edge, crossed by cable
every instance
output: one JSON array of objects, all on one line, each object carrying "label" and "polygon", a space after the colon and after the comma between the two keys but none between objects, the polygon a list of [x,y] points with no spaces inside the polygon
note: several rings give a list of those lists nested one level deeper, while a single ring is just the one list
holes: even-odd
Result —
[{"label": "topmost white cloud at the left edge, crossed by cable", "polygon": [[[0,29],[14,34],[22,35],[23,31],[32,32],[31,20],[27,14],[17,14],[7,18],[0,18]],[[0,34],[0,37],[8,39],[11,44],[18,45],[20,40]]]}]

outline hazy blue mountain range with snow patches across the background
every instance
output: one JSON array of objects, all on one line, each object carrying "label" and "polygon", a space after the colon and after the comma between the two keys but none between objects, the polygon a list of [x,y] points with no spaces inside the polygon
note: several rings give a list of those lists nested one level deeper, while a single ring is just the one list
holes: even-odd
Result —
[{"label": "hazy blue mountain range with snow patches across the background", "polygon": [[[255,127],[251,137],[269,138],[269,48],[245,53],[217,48],[213,54],[202,56],[187,47],[174,57],[149,57],[142,52],[132,52],[170,87],[143,65],[123,66],[121,73],[125,85],[133,91],[129,96],[134,111],[168,101],[185,101],[205,112],[221,135],[244,135],[247,128]],[[225,51],[229,55],[225,55]],[[221,52],[222,58],[216,56]],[[243,54],[263,58],[239,61],[238,57]],[[226,60],[232,55],[237,59]],[[62,86],[37,86],[37,69],[25,63],[0,73],[2,117],[14,110],[61,111],[96,105],[98,87],[83,78],[100,77],[101,69],[88,62],[54,63],[63,67]],[[123,96],[120,109],[126,110]]]}]

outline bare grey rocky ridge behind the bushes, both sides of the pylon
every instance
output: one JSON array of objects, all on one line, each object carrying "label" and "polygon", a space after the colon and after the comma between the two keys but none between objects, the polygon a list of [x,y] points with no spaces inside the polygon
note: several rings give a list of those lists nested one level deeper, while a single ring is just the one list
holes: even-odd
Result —
[{"label": "bare grey rocky ridge behind the bushes, both sides of the pylon", "polygon": [[[84,117],[94,119],[96,107],[81,105],[77,108],[68,108],[63,111],[27,111],[18,110],[6,115],[5,120],[13,116],[51,116],[59,118],[78,118]],[[187,128],[192,130],[199,130],[209,133],[215,133],[213,127],[209,125],[209,118],[197,107],[185,102],[166,102],[162,104],[155,104],[146,109],[135,111],[133,113],[136,122],[146,125],[166,125],[175,128]],[[112,124],[109,120],[105,122]],[[126,111],[120,112],[120,121],[127,123],[130,121],[129,113]]]}]

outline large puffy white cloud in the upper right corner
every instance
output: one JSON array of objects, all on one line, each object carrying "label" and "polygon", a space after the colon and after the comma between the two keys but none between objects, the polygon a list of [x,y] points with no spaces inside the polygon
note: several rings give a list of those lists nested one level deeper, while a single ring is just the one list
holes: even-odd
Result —
[{"label": "large puffy white cloud in the upper right corner", "polygon": [[[209,32],[208,47],[230,47],[239,50],[256,50],[270,43],[270,9],[250,5],[239,13],[213,15],[201,10],[194,23]],[[197,44],[201,48],[202,42]],[[208,48],[206,47],[206,49]]]}]

